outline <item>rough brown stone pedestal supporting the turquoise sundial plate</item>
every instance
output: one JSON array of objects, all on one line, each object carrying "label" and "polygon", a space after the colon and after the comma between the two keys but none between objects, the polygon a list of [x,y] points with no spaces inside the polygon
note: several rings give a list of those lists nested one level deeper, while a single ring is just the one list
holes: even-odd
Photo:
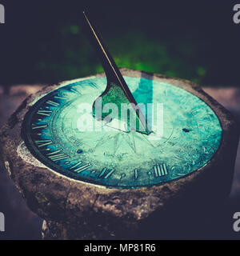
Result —
[{"label": "rough brown stone pedestal supporting the turquoise sundial plate", "polygon": [[[148,74],[140,71],[121,71],[123,75],[148,78]],[[43,238],[157,238],[163,235],[161,230],[166,225],[174,230],[176,212],[182,223],[190,224],[196,216],[204,219],[205,214],[217,209],[227,198],[238,147],[239,129],[234,118],[192,82],[158,74],[150,77],[190,91],[214,110],[223,131],[218,152],[206,166],[189,176],[161,186],[134,190],[78,182],[24,162],[17,152],[22,143],[22,120],[35,98],[58,88],[58,85],[46,86],[22,102],[0,134],[2,163],[30,210],[46,220]]]}]

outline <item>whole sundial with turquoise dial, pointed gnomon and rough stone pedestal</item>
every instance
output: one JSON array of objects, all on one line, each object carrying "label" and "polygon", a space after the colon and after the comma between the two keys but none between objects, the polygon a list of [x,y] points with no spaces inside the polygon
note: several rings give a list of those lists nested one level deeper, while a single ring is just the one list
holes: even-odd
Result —
[{"label": "whole sundial with turquoise dial, pointed gnomon and rough stone pedestal", "polygon": [[118,70],[83,19],[105,74],[47,86],[2,130],[2,159],[46,219],[45,238],[134,237],[168,202],[226,196],[238,145],[231,115],[192,82]]}]

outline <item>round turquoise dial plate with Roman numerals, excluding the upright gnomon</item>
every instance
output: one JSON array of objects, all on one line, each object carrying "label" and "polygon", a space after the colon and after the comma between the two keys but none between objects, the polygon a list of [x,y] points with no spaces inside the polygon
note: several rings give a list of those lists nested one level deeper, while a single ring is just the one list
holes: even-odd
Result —
[{"label": "round turquoise dial plate with Roman numerals, excluding the upright gnomon", "polygon": [[146,109],[158,132],[129,132],[114,121],[95,120],[91,106],[106,78],[89,78],[63,84],[30,108],[22,138],[31,154],[69,178],[119,189],[161,185],[206,165],[222,138],[210,106],[164,82],[125,80],[136,102],[153,103]]}]

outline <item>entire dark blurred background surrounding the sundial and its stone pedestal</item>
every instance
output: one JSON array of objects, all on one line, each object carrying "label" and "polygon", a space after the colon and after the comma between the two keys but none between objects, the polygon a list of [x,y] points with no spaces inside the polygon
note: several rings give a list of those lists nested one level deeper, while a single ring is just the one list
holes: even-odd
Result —
[{"label": "entire dark blurred background surrounding the sundial and its stone pedestal", "polygon": [[[0,128],[28,94],[43,84],[102,72],[82,34],[81,10],[96,23],[117,65],[197,82],[240,121],[240,24],[234,4],[222,0],[80,1],[0,0]],[[238,88],[239,87],[239,88]],[[240,238],[240,150],[230,199],[203,238]],[[0,239],[38,239],[42,220],[33,214],[0,169]]]}]

